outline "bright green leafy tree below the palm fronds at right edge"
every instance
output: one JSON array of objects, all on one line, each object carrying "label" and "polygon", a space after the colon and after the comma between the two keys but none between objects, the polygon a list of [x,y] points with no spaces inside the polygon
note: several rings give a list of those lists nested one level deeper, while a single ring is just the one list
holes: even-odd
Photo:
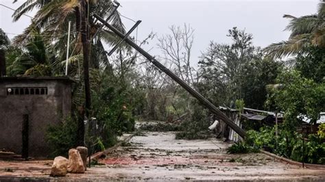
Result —
[{"label": "bright green leafy tree below the palm fronds at right edge", "polygon": [[325,84],[304,78],[296,70],[283,72],[277,81],[280,88],[272,90],[269,100],[285,112],[287,129],[298,126],[298,116],[306,116],[315,124],[325,108]]}]

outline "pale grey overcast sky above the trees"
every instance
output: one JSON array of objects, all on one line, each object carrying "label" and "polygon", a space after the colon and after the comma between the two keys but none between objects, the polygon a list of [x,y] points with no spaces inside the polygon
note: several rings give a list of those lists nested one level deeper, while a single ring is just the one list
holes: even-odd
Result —
[{"label": "pale grey overcast sky above the trees", "polygon": [[[273,42],[287,40],[289,32],[283,31],[288,20],[282,18],[283,14],[302,16],[314,14],[317,11],[318,0],[305,1],[266,1],[266,0],[241,0],[241,1],[136,1],[119,0],[122,7],[119,12],[134,20],[141,20],[138,39],[142,40],[151,31],[161,36],[169,33],[169,26],[189,23],[195,29],[193,44],[193,57],[191,62],[197,63],[197,57],[208,47],[210,40],[218,43],[230,42],[226,37],[228,29],[238,27],[253,34],[254,45],[265,47]],[[3,5],[17,8],[23,1],[12,4],[12,0],[0,0]],[[10,34],[20,34],[30,23],[30,18],[23,16],[19,22],[12,23],[12,11],[0,6],[0,27]],[[30,14],[32,15],[32,14]],[[123,23],[130,29],[133,22],[123,18]],[[133,34],[133,36],[135,36]],[[153,40],[149,46],[154,47],[150,53],[159,54],[156,47],[157,41]]]}]

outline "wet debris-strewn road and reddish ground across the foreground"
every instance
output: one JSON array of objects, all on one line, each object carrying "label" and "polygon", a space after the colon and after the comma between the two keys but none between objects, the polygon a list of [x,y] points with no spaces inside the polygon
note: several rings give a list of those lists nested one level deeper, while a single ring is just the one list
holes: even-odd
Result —
[{"label": "wet debris-strewn road and reddish ground across the foreground", "polygon": [[134,136],[85,174],[51,178],[51,161],[0,161],[0,181],[325,181],[325,170],[283,164],[261,153],[227,154],[228,145],[214,138],[175,140],[173,132],[148,132]]}]

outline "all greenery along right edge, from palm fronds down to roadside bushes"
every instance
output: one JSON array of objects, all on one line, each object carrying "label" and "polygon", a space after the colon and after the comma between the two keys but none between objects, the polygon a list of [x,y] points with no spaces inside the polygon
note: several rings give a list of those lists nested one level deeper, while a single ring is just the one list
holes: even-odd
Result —
[{"label": "all greenery along right edge, from palm fronds down to roadside bushes", "polygon": [[[283,112],[284,120],[275,127],[248,131],[248,138],[228,148],[229,153],[248,153],[263,149],[296,161],[325,164],[325,124],[317,124],[325,110],[324,2],[317,14],[290,19],[289,40],[265,48],[274,59],[285,59],[285,68],[269,86],[265,106]],[[288,59],[286,56],[290,56]],[[302,128],[302,118],[310,119],[311,133]],[[318,127],[315,127],[318,126]]]}]

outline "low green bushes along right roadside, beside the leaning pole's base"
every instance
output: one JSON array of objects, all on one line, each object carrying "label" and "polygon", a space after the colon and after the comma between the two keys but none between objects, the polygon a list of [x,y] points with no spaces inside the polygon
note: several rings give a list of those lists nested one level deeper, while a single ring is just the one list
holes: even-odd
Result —
[{"label": "low green bushes along right roadside, beside the leaning pole's base", "polygon": [[305,141],[301,134],[288,133],[281,127],[278,138],[274,127],[248,131],[245,141],[230,146],[228,153],[250,153],[261,149],[300,162],[325,164],[325,143],[320,135],[309,135]]}]

